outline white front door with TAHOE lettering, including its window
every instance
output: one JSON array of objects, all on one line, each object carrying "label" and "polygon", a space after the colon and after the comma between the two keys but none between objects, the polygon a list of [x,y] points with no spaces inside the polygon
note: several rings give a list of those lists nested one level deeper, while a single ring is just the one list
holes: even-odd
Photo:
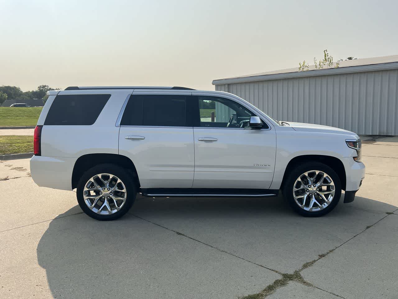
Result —
[{"label": "white front door with TAHOE lettering, including its window", "polygon": [[[193,96],[194,188],[269,189],[275,168],[275,129],[248,126],[254,112],[230,98]],[[199,119],[200,118],[200,119]]]}]

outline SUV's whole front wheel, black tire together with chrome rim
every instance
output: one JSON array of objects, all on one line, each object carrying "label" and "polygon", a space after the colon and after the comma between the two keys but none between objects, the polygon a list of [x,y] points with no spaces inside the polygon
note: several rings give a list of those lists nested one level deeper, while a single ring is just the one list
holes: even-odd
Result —
[{"label": "SUV's whole front wheel, black tire together with chrome rim", "polygon": [[337,173],[319,162],[297,166],[283,186],[283,197],[303,216],[316,217],[333,210],[341,196]]}]

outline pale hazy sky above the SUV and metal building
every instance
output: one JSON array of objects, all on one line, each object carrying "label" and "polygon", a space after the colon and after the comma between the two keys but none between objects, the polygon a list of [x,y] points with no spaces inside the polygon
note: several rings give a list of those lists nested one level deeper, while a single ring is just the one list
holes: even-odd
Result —
[{"label": "pale hazy sky above the SUV and metal building", "polygon": [[398,54],[398,1],[0,0],[0,85],[185,86]]}]

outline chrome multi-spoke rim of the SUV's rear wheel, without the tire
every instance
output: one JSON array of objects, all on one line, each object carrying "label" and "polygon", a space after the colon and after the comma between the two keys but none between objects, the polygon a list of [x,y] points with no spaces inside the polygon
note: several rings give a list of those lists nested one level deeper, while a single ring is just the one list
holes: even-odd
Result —
[{"label": "chrome multi-spoke rim of the SUV's rear wheel, without the tire", "polygon": [[125,184],[115,175],[100,173],[84,185],[83,199],[97,214],[110,215],[119,211],[126,202]]}]

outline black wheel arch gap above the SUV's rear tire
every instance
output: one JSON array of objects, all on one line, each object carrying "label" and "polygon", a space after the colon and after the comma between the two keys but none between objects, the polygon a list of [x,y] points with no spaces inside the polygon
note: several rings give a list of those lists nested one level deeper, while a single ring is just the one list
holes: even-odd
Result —
[{"label": "black wheel arch gap above the SUV's rear tire", "polygon": [[123,167],[131,173],[137,189],[140,188],[137,169],[129,157],[113,153],[90,153],[82,155],[76,160],[72,171],[72,189],[77,187],[78,181],[84,172],[102,163],[112,163]]}]

